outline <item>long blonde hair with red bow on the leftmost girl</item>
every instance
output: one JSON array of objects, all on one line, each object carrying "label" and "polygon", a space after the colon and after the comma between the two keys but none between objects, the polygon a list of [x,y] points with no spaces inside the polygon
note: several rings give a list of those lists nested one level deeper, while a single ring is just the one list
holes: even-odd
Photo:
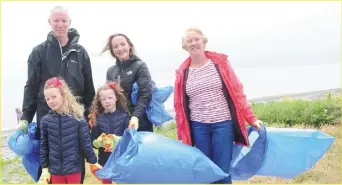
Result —
[{"label": "long blonde hair with red bow on the leftmost girl", "polygon": [[75,97],[67,83],[61,77],[53,77],[46,81],[44,90],[49,88],[58,88],[61,95],[63,96],[63,104],[61,111],[74,117],[77,120],[81,120],[84,114],[84,107],[82,104],[78,103],[79,97]]}]

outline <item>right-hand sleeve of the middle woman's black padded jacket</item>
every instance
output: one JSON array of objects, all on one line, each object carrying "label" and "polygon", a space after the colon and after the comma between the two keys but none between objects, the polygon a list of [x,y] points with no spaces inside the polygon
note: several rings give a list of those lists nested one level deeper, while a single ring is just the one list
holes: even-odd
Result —
[{"label": "right-hand sleeve of the middle woman's black padded jacket", "polygon": [[152,99],[152,80],[151,74],[147,68],[146,63],[142,63],[138,74],[137,74],[137,83],[138,83],[138,101],[134,107],[133,116],[141,117],[147,105],[150,103]]}]

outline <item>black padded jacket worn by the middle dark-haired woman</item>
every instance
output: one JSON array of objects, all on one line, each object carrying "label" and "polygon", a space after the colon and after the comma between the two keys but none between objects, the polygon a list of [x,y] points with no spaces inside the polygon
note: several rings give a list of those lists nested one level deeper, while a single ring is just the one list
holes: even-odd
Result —
[{"label": "black padded jacket worn by the middle dark-haired woman", "polygon": [[[152,99],[152,80],[146,63],[141,61],[135,55],[131,56],[130,59],[126,61],[117,60],[116,65],[111,66],[107,70],[106,79],[107,81],[116,81],[120,83],[127,99],[128,110],[132,116],[139,118],[139,125],[152,125],[148,119],[144,119],[146,121],[140,122],[140,120],[143,120],[143,117],[146,117],[145,109]],[[135,106],[131,99],[132,86],[134,82],[138,83],[139,89],[138,101]]]}]

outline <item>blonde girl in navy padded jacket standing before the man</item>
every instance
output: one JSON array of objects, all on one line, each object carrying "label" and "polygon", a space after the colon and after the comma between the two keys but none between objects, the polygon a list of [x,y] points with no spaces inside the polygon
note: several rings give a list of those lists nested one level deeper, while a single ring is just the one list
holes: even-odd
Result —
[{"label": "blonde girl in navy padded jacket standing before the man", "polygon": [[91,146],[89,127],[64,80],[54,77],[46,81],[44,95],[50,112],[40,122],[40,180],[51,184],[80,184],[80,152],[92,167],[101,168]]}]

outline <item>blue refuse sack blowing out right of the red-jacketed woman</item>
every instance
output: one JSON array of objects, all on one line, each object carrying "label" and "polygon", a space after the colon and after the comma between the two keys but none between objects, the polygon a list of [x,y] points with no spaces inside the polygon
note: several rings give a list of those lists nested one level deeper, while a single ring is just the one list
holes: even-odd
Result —
[{"label": "blue refuse sack blowing out right of the red-jacketed woman", "polygon": [[248,130],[251,148],[234,146],[231,175],[235,180],[253,175],[292,179],[311,169],[335,140],[316,129]]}]

